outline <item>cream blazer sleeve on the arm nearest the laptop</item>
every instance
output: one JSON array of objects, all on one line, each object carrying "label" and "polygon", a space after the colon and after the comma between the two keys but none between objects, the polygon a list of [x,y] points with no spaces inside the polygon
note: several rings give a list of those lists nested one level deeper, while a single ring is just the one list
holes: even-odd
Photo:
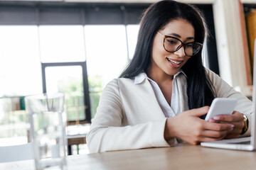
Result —
[{"label": "cream blazer sleeve on the arm nearest the laptop", "polygon": [[213,89],[215,89],[216,97],[219,98],[237,98],[238,104],[235,106],[235,111],[239,111],[247,115],[249,119],[249,128],[242,136],[250,135],[250,123],[252,120],[252,101],[250,101],[246,96],[243,96],[239,91],[235,91],[233,87],[228,85],[223,79],[221,79],[217,74],[206,69],[206,74],[213,83]]}]

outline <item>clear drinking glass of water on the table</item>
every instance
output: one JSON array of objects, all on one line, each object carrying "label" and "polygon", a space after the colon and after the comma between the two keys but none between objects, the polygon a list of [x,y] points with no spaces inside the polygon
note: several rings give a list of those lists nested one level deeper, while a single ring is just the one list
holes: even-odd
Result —
[{"label": "clear drinking glass of water on the table", "polygon": [[31,140],[36,170],[66,164],[64,94],[39,94],[25,98],[31,125]]}]

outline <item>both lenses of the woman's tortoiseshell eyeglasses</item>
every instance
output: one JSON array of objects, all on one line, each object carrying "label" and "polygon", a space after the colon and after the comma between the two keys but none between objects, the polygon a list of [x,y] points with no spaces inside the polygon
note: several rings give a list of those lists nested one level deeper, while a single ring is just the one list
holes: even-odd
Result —
[{"label": "both lenses of the woman's tortoiseshell eyeglasses", "polygon": [[[165,38],[164,40],[164,48],[169,52],[175,52],[182,45],[182,42],[175,38]],[[184,45],[185,54],[187,56],[193,56],[201,50],[201,45],[196,42],[188,42]]]}]

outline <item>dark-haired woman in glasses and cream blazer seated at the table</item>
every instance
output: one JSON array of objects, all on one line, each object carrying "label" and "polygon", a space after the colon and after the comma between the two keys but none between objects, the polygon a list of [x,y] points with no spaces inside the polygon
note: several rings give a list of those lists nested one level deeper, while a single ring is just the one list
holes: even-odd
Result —
[{"label": "dark-haired woman in glasses and cream blazer seated at the table", "polygon": [[[107,84],[87,135],[90,152],[169,147],[238,137],[252,103],[203,67],[201,13],[159,1],[144,13],[132,61]],[[238,98],[232,115],[202,118],[215,97]],[[244,132],[242,132],[244,133]]]}]

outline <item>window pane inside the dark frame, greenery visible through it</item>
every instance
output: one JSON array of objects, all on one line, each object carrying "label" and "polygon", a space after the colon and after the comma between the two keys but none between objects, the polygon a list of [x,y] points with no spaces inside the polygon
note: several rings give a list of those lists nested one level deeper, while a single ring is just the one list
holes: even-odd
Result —
[{"label": "window pane inside the dark frame, greenery visible through it", "polygon": [[65,112],[68,121],[85,120],[82,67],[46,67],[46,89],[49,93],[65,94]]}]

